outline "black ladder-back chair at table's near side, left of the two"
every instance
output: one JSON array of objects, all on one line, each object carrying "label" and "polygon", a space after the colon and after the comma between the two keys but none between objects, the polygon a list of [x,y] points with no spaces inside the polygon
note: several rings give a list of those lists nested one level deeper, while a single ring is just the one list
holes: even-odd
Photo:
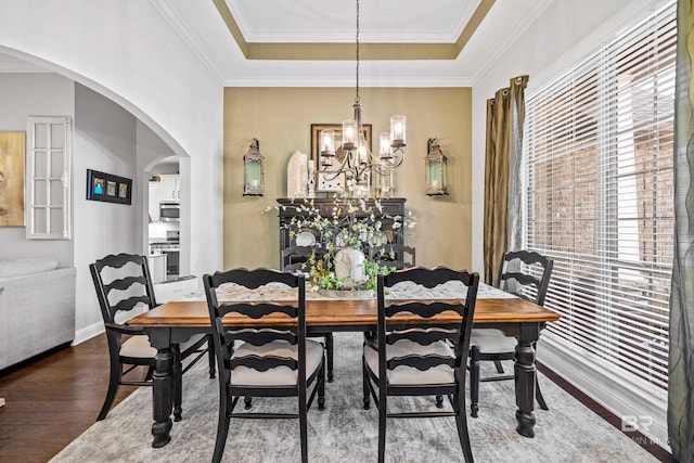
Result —
[{"label": "black ladder-back chair at table's near side, left of the two", "polygon": [[[270,269],[233,269],[206,274],[203,283],[219,370],[219,419],[213,462],[221,460],[232,417],[298,417],[301,461],[306,462],[308,410],[317,393],[319,410],[325,406],[325,356],[321,343],[306,338],[304,275]],[[296,288],[296,298],[280,303],[219,301],[217,288],[226,283],[235,283],[252,292],[262,291],[269,283],[283,283]],[[243,327],[224,327],[222,318],[227,314],[243,320]],[[241,397],[296,397],[298,412],[234,413]]]}]

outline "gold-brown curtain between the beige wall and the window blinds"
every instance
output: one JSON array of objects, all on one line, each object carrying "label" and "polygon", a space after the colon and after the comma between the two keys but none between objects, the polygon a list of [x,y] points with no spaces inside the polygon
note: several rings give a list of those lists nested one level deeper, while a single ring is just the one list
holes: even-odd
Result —
[{"label": "gold-brown curtain between the beige wall and the window blinds", "polygon": [[[511,79],[509,88],[487,100],[485,158],[485,283],[496,285],[501,257],[519,243],[520,196],[518,169],[528,76]],[[510,218],[511,215],[511,218]]]}]

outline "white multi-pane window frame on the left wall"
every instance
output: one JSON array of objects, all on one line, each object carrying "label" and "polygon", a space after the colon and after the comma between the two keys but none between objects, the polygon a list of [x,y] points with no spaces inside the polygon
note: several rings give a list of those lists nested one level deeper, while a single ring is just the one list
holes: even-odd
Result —
[{"label": "white multi-pane window frame on the left wall", "polygon": [[70,119],[30,116],[27,133],[26,237],[69,240]]}]

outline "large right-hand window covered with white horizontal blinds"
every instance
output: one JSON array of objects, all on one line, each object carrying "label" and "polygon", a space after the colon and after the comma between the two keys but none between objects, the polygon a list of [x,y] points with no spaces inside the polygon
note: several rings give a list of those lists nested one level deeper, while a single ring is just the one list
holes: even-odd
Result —
[{"label": "large right-hand window covered with white horizontal blinds", "polygon": [[676,42],[672,1],[526,105],[524,241],[555,260],[562,316],[543,342],[651,398],[668,383]]}]

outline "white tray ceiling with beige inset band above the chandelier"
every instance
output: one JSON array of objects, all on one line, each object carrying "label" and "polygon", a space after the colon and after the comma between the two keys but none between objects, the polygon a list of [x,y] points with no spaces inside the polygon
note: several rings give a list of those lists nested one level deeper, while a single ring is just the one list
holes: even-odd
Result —
[{"label": "white tray ceiling with beige inset band above the chandelier", "polygon": [[[360,85],[471,86],[552,1],[361,0]],[[150,2],[223,86],[355,85],[356,1]]]}]

